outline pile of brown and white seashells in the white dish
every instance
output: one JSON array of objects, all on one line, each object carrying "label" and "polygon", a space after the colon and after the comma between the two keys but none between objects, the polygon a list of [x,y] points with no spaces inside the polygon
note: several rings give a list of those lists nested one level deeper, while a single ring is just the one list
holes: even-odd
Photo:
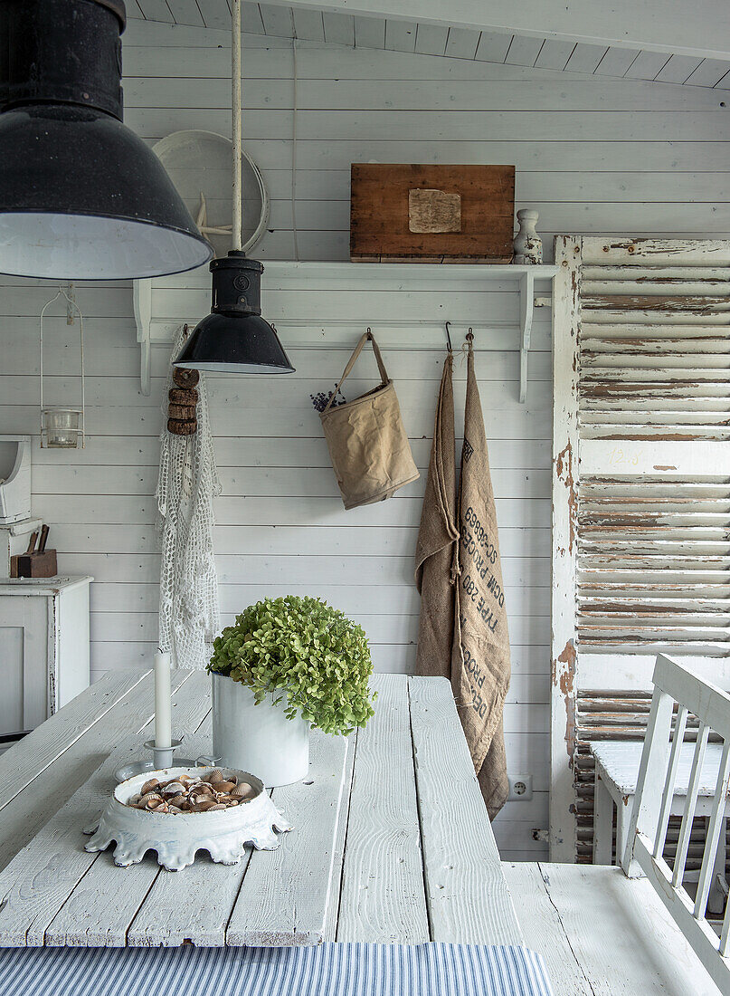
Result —
[{"label": "pile of brown and white seashells in the white dish", "polygon": [[203,776],[179,775],[169,782],[150,778],[142,791],[126,803],[152,813],[213,813],[249,802],[256,790],[236,775],[224,776],[219,768]]}]

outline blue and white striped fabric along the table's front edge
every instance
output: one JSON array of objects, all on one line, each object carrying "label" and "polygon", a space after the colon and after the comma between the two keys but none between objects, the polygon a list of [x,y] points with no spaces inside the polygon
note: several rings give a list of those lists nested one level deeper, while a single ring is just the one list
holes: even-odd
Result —
[{"label": "blue and white striped fabric along the table's front edge", "polygon": [[2,996],[552,996],[540,955],[469,944],[4,948]]}]

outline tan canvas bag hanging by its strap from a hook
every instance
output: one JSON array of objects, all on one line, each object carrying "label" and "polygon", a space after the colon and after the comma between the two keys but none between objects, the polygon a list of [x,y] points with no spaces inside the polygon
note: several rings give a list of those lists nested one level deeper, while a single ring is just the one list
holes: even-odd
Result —
[{"label": "tan canvas bag hanging by its strap from a hook", "polygon": [[[373,344],[381,382],[354,401],[333,406],[337,391],[367,342]],[[319,417],[346,509],[390,498],[418,478],[396,389],[370,329],[360,337]]]}]

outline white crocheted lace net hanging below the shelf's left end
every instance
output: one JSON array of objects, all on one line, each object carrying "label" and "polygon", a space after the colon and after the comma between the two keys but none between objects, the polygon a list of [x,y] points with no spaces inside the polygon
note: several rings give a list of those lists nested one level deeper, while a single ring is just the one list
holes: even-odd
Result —
[{"label": "white crocheted lace net hanging below the shelf's left end", "polygon": [[[184,326],[177,330],[171,360],[187,335]],[[159,645],[172,654],[174,666],[204,668],[221,625],[213,554],[213,498],[221,493],[221,485],[203,376],[198,383],[198,430],[193,435],[167,431],[167,396],[173,386],[170,363],[156,493],[162,545]]]}]

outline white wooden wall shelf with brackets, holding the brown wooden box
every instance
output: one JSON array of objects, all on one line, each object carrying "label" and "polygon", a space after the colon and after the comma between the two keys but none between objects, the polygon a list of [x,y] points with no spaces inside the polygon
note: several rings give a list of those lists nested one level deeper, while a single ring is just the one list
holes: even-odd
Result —
[{"label": "white wooden wall shelf with brackets, holding the brown wooden box", "polygon": [[[515,329],[515,349],[520,354],[519,399],[527,395],[527,358],[535,307],[535,293],[547,303],[547,293],[557,267],[432,264],[432,263],[293,263],[265,262],[262,279],[264,314],[281,332],[295,331],[298,345],[332,346],[337,331],[370,326],[412,329],[473,328],[488,335],[496,326]],[[484,292],[517,293],[518,309],[512,321],[491,320]],[[343,297],[343,293],[351,292]],[[328,297],[330,300],[328,300]],[[140,345],[143,394],[150,391],[150,351],[155,344],[169,344],[175,329],[195,325],[210,310],[210,273],[201,267],[188,273],[153,280],[134,281],[134,319]],[[305,330],[311,330],[307,340]],[[325,344],[326,338],[326,344]],[[303,341],[302,341],[303,340]],[[445,339],[446,342],[446,339]],[[481,340],[483,343],[483,339]],[[422,345],[423,344],[423,345]],[[338,342],[337,345],[342,345]],[[386,340],[382,345],[388,347]],[[404,345],[404,344],[399,344]],[[409,349],[433,349],[423,335]],[[478,346],[477,349],[488,349]]]}]

